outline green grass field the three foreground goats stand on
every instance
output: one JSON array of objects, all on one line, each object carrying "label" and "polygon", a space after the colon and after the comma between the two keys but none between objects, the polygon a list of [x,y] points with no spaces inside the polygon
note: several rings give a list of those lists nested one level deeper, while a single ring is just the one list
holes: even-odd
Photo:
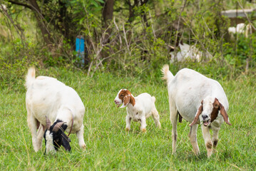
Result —
[{"label": "green grass field the three foreground goats stand on", "polygon": [[[26,123],[26,90],[22,83],[15,90],[0,93],[0,168],[1,170],[255,170],[256,115],[254,76],[240,76],[235,81],[220,81],[230,103],[228,115],[232,126],[223,124],[217,152],[208,159],[201,129],[196,157],[188,139],[188,123],[178,124],[178,147],[171,155],[171,124],[168,93],[163,81],[141,81],[98,74],[88,78],[81,72],[51,69],[38,71],[73,87],[86,106],[83,119],[87,149],[80,150],[76,135],[71,135],[71,152],[61,149],[56,155],[34,152],[31,133]],[[132,122],[126,133],[126,109],[113,102],[121,88],[133,95],[143,92],[156,98],[162,129],[147,120],[147,133],[140,133],[139,123]]]}]

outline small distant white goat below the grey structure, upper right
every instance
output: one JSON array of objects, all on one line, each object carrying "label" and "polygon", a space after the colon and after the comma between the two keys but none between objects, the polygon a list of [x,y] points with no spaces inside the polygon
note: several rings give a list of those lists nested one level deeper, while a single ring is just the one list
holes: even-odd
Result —
[{"label": "small distant white goat below the grey structure, upper right", "polygon": [[234,39],[235,33],[245,34],[245,37],[248,38],[248,35],[252,33],[252,26],[250,24],[237,24],[236,27],[229,27],[227,29],[230,34],[231,39]]}]

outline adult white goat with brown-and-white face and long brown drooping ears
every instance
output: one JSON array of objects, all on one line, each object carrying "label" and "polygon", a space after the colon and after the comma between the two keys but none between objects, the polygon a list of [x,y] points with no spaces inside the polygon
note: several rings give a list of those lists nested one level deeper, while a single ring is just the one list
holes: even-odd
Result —
[{"label": "adult white goat with brown-and-white face and long brown drooping ears", "polygon": [[[203,122],[201,128],[208,157],[210,157],[217,146],[220,125],[224,121],[231,125],[227,116],[227,96],[222,86],[217,81],[188,68],[178,71],[173,76],[169,71],[169,66],[165,65],[162,72],[163,79],[168,85],[170,120],[173,125],[173,153],[176,151],[179,115],[180,122],[181,118],[190,122],[189,138],[195,155],[200,153],[196,136],[198,124],[200,121]],[[213,130],[212,139],[210,129]]]}]

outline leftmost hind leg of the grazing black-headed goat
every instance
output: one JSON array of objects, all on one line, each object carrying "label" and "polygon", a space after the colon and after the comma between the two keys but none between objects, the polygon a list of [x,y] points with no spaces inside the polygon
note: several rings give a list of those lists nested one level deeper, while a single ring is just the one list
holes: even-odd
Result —
[{"label": "leftmost hind leg of the grazing black-headed goat", "polygon": [[36,133],[38,121],[36,120],[36,118],[34,118],[33,115],[31,115],[29,113],[29,110],[27,110],[27,111],[28,111],[27,122],[29,125],[29,130],[31,131],[31,135],[32,135],[32,144],[33,144],[35,152],[38,152],[41,147],[41,143],[39,143],[39,141],[37,139],[37,133]]}]

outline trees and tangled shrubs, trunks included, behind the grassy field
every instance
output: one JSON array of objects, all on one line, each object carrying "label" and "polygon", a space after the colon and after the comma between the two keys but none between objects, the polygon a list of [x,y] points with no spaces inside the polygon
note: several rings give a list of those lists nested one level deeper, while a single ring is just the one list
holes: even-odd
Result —
[{"label": "trees and tangled shrubs, trunks included, behind the grassy field", "polygon": [[[83,36],[85,69],[90,76],[96,71],[122,71],[131,75],[153,72],[159,63],[170,60],[169,47],[179,51],[181,41],[203,53],[210,52],[222,61],[221,66],[231,60],[229,56],[235,56],[236,68],[245,67],[248,53],[240,53],[239,48],[247,46],[235,48],[235,53],[228,51],[235,44],[224,39],[230,21],[221,15],[222,10],[235,8],[240,1],[5,0],[2,3],[7,6],[1,13],[6,16],[2,21],[12,33],[11,46],[15,51],[12,56],[16,56],[11,57],[13,63],[21,61],[25,54],[29,63],[76,68],[81,65],[76,65],[80,61],[74,52],[75,38]],[[240,4],[244,9],[250,6],[245,1]],[[34,32],[29,34],[29,30]],[[254,42],[250,46],[248,49],[254,49]],[[4,54],[11,56],[8,53]],[[250,50],[254,61],[252,54]],[[10,61],[8,57],[3,60]],[[177,67],[182,68],[183,64]]]}]

